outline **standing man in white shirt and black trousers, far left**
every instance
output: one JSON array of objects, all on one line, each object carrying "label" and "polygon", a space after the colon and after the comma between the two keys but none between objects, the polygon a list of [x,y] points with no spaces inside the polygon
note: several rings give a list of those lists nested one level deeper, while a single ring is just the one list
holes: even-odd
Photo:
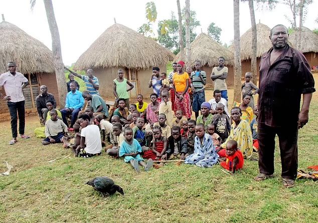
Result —
[{"label": "standing man in white shirt and black trousers, far left", "polygon": [[[19,133],[23,139],[30,138],[24,134],[25,130],[25,98],[22,89],[29,84],[28,79],[21,73],[16,72],[17,65],[11,61],[8,63],[9,72],[0,75],[0,86],[4,86],[5,92],[0,92],[1,96],[7,101],[11,116],[11,145],[17,142],[18,137],[18,115],[19,115]],[[4,96],[4,94],[6,96]]]}]

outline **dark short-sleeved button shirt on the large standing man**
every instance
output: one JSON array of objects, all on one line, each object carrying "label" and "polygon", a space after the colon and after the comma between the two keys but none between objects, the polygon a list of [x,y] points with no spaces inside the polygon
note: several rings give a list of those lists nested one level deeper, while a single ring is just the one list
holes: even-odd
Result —
[{"label": "dark short-sleeved button shirt on the large standing man", "polygon": [[258,123],[280,127],[298,121],[301,94],[315,92],[306,58],[287,44],[270,65],[270,53],[263,54],[259,69]]}]

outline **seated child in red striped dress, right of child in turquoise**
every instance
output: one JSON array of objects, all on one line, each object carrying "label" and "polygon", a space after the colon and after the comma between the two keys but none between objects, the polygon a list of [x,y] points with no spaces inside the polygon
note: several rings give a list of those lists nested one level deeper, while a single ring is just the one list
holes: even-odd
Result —
[{"label": "seated child in red striped dress, right of child in turquoise", "polygon": [[162,135],[160,126],[153,126],[152,133],[152,149],[145,151],[142,157],[145,159],[160,160],[167,151],[168,139]]}]

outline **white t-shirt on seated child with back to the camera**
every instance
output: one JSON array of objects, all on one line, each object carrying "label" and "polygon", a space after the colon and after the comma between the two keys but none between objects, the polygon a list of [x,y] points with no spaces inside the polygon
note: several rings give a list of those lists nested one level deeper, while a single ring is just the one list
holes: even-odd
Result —
[{"label": "white t-shirt on seated child with back to the camera", "polygon": [[85,151],[90,154],[100,153],[102,143],[97,125],[88,125],[81,131],[81,136],[85,137]]}]

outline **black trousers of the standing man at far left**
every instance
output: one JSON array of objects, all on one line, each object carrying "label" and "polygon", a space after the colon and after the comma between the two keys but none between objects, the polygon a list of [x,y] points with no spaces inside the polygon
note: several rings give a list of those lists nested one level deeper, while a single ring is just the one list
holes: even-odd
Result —
[{"label": "black trousers of the standing man at far left", "polygon": [[19,133],[24,134],[24,128],[26,125],[25,120],[25,101],[11,102],[8,101],[8,107],[11,116],[11,131],[12,137],[17,138],[18,136],[18,117],[19,117]]}]

